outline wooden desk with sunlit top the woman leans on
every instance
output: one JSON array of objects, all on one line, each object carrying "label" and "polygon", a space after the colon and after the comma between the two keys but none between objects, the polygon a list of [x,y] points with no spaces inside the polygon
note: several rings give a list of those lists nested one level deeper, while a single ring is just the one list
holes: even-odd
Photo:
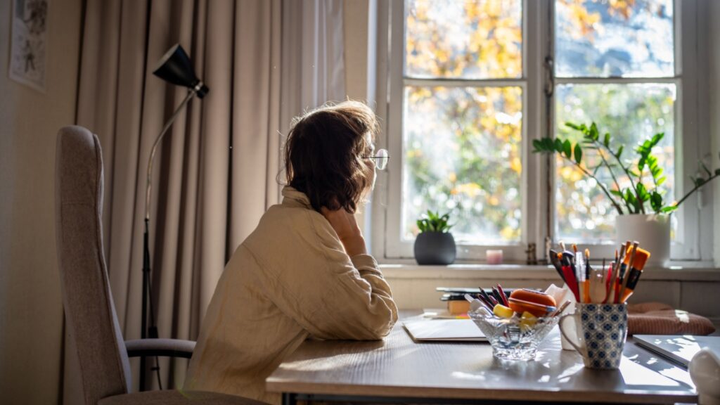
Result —
[{"label": "wooden desk with sunlit top the woman leans on", "polygon": [[[415,343],[398,321],[383,341],[304,342],[266,380],[297,400],[405,403],[698,401],[683,368],[628,339],[619,370],[590,370],[560,347],[556,327],[531,362],[492,357],[488,343]],[[472,400],[472,401],[471,401]]]}]

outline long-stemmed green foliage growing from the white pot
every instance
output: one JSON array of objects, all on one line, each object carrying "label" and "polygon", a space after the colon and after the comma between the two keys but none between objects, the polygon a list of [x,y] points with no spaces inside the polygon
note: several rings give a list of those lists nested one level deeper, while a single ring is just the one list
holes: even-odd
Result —
[{"label": "long-stemmed green foliage growing from the white pot", "polygon": [[[533,141],[534,153],[559,153],[562,159],[570,161],[571,164],[575,165],[580,172],[588,177],[595,179],[598,183],[598,187],[603,190],[603,193],[611,201],[613,208],[615,208],[618,214],[639,214],[646,213],[645,205],[649,203],[650,208],[654,213],[671,213],[676,210],[680,204],[683,203],[693,192],[696,192],[700,187],[711,182],[715,177],[720,176],[720,169],[716,169],[715,172],[711,172],[708,167],[699,162],[707,177],[690,176],[695,187],[685,194],[678,202],[666,204],[664,200],[665,190],[661,187],[665,182],[665,176],[662,175],[663,169],[657,164],[657,158],[652,155],[652,148],[662,141],[664,133],[656,133],[651,138],[646,139],[642,143],[639,143],[635,148],[637,154],[637,161],[626,161],[622,159],[624,146],[620,145],[614,147],[611,145],[612,137],[609,133],[605,133],[600,138],[600,131],[595,123],[592,123],[590,127],[585,124],[574,124],[565,123],[568,128],[578,130],[582,133],[582,146],[580,143],[572,145],[570,140],[562,138],[542,138]],[[586,164],[587,159],[583,160],[584,151],[594,151],[594,153],[600,158],[598,163],[594,166],[588,166]],[[612,179],[611,187],[606,186],[598,180],[596,175],[598,170],[605,168]],[[629,179],[629,187],[621,187],[618,182],[618,177],[613,169],[621,170],[626,177]],[[646,172],[647,171],[647,172]],[[652,184],[645,184],[644,181],[648,178],[646,174],[649,174],[649,178],[652,179]]]}]

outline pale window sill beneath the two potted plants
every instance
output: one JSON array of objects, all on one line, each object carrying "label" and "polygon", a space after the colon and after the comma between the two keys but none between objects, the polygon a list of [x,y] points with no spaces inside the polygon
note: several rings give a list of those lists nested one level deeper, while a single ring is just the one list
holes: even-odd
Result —
[{"label": "pale window sill beneath the two potted plants", "polygon": [[[473,279],[473,280],[549,280],[559,276],[552,266],[528,264],[472,264],[420,266],[411,260],[382,262],[380,270],[388,279]],[[643,271],[643,280],[714,281],[720,282],[720,268],[712,262],[670,262],[668,267],[650,267]]]}]

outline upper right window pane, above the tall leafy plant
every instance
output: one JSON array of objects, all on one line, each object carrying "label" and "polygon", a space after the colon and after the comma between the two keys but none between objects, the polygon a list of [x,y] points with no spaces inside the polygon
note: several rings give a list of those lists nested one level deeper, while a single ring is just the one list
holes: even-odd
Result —
[{"label": "upper right window pane, above the tall leafy plant", "polygon": [[555,74],[674,76],[672,0],[555,2]]}]

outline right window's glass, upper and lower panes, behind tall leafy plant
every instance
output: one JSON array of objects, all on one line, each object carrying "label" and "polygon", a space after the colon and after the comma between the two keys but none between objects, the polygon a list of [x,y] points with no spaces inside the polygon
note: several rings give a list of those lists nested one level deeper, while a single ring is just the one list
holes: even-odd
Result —
[{"label": "right window's glass, upper and lower panes, behind tall leafy plant", "polygon": [[[571,133],[571,138],[581,141],[577,131],[568,131],[562,123],[590,121],[623,145],[665,133],[654,154],[665,168],[666,181],[661,185],[672,195],[675,105],[681,81],[675,74],[672,0],[564,0],[556,2],[554,14],[556,134],[565,138]],[[600,153],[613,159],[605,150]],[[555,168],[557,239],[608,239],[617,213],[597,182],[559,156]],[[598,171],[598,179],[610,184],[611,190],[628,187],[631,181],[623,175],[615,182],[604,169]],[[644,183],[652,184],[652,179]]]}]

